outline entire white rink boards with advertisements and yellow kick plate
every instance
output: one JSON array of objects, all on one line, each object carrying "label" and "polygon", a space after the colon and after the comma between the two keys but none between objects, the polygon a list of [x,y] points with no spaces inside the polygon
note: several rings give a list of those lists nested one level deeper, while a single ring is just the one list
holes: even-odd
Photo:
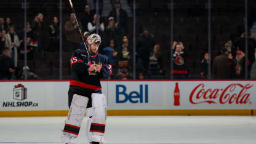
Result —
[{"label": "entire white rink boards with advertisements and yellow kick plate", "polygon": [[[23,88],[15,87],[18,84]],[[69,81],[1,81],[0,87],[0,117],[68,113]],[[256,81],[102,81],[102,87],[108,116],[255,115],[256,111]]]}]

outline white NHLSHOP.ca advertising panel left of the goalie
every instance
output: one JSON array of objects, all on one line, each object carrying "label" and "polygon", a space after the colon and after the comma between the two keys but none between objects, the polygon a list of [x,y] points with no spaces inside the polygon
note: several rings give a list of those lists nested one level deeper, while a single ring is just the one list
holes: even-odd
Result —
[{"label": "white NHLSHOP.ca advertising panel left of the goalie", "polygon": [[[64,95],[57,89],[65,85],[52,82],[0,82],[0,110],[65,110],[65,106],[57,102],[57,99],[60,99],[59,95]],[[67,94],[68,88],[65,90]]]}]

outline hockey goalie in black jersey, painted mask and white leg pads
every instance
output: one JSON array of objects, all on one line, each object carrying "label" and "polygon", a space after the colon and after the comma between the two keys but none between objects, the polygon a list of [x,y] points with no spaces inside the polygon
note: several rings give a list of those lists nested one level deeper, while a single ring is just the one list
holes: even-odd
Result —
[{"label": "hockey goalie in black jersey, painted mask and white leg pads", "polygon": [[[102,94],[100,79],[111,75],[111,64],[105,55],[98,54],[101,38],[91,34],[86,41],[90,58],[85,49],[74,50],[70,59],[71,79],[68,90],[70,111],[63,129],[62,142],[75,143],[84,113],[87,121],[87,138],[90,143],[105,143],[106,98]],[[90,61],[89,61],[90,59]]]}]

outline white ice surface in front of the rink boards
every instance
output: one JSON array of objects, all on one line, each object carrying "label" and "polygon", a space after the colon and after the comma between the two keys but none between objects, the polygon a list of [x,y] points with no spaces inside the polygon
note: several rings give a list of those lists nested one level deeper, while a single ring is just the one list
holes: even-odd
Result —
[{"label": "white ice surface in front of the rink boards", "polygon": [[[0,144],[60,143],[65,117],[0,118]],[[78,143],[88,143],[84,118]],[[255,116],[108,116],[108,143],[256,143]]]}]

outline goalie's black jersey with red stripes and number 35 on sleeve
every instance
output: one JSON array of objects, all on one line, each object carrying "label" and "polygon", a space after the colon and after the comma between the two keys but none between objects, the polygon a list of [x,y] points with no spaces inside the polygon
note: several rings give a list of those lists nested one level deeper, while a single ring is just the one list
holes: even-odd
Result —
[{"label": "goalie's black jersey with red stripes and number 35 on sleeve", "polygon": [[105,55],[98,53],[95,55],[90,55],[90,60],[92,63],[97,65],[98,63],[102,63],[100,73],[97,71],[87,71],[91,63],[88,62],[89,60],[86,50],[77,49],[74,51],[70,59],[70,86],[82,87],[91,90],[102,89],[100,79],[108,79],[112,73],[112,65],[110,60],[108,60]]}]

